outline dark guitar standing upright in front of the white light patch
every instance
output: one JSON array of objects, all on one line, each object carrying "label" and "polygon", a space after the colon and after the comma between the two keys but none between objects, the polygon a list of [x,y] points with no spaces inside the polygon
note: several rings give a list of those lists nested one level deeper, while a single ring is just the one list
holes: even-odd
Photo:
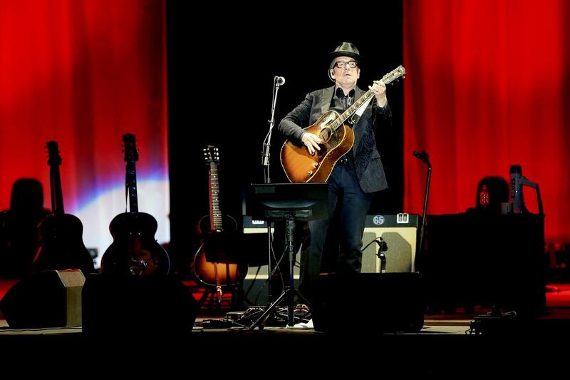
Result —
[{"label": "dark guitar standing upright in front of the white light patch", "polygon": [[128,212],[113,218],[109,225],[113,243],[103,254],[101,272],[103,274],[152,274],[170,273],[170,258],[165,249],[155,240],[158,227],[152,215],[138,211],[137,174],[135,162],[138,151],[135,135],[123,135],[125,143],[126,180]]}]

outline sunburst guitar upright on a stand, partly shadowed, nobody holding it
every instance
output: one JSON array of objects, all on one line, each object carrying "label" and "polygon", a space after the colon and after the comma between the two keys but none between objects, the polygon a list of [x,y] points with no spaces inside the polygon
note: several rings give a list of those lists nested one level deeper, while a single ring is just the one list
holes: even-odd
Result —
[{"label": "sunburst guitar upright on a stand, partly shadowed, nobody holding it", "polygon": [[198,222],[202,242],[192,263],[192,271],[203,284],[216,287],[217,301],[222,302],[222,286],[236,285],[245,276],[244,265],[236,257],[237,222],[220,210],[218,163],[219,151],[212,145],[204,149],[209,164],[209,215]]}]

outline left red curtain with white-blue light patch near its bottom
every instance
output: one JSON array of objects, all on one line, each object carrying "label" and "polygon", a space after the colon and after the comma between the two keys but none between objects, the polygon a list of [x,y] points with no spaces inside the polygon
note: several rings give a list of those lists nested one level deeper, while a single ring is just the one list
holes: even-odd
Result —
[{"label": "left red curtain with white-blue light patch near its bottom", "polygon": [[66,212],[102,253],[125,211],[122,135],[135,133],[139,209],[170,240],[165,13],[159,0],[0,3],[0,209],[22,177],[41,180],[51,207],[45,147],[56,140]]}]

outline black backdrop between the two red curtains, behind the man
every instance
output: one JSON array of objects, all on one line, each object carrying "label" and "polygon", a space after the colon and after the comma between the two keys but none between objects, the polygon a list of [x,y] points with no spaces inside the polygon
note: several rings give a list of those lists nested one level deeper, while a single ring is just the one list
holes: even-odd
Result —
[{"label": "black backdrop between the two red curtains, behind the man", "polygon": [[[172,250],[179,252],[192,246],[187,243],[195,222],[208,212],[205,145],[220,150],[222,212],[241,218],[243,189],[263,182],[261,150],[269,130],[274,76],[286,80],[277,98],[277,125],[309,91],[332,85],[327,53],[342,41],[352,41],[361,51],[358,83],[363,89],[403,63],[400,1],[366,6],[366,11],[357,11],[363,11],[358,18],[351,16],[348,26],[334,14],[343,12],[343,6],[331,5],[334,11],[329,13],[256,9],[256,16],[248,16],[243,4],[209,7],[197,14],[189,4],[167,3]],[[207,26],[194,24],[197,18]],[[375,212],[403,210],[401,81],[388,88],[388,99],[394,133],[385,136],[381,148],[392,190],[376,198]],[[286,182],[279,162],[283,142],[275,126],[274,183]]]}]

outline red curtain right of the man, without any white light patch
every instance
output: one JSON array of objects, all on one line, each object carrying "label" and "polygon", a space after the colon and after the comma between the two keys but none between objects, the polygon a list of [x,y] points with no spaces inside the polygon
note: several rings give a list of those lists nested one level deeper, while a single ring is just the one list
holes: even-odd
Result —
[{"label": "red curtain right of the man, without any white light patch", "polygon": [[[405,0],[405,210],[475,207],[477,183],[509,179],[509,166],[539,184],[547,240],[570,241],[570,4],[564,0]],[[534,190],[525,187],[531,212]]]}]

